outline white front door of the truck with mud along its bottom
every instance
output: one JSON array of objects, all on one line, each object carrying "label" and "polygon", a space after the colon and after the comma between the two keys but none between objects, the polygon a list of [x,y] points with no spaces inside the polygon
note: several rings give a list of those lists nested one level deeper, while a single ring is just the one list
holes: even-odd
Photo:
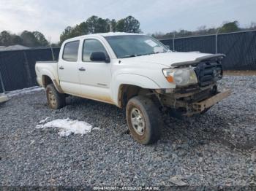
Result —
[{"label": "white front door of the truck with mud along its bottom", "polygon": [[92,52],[105,52],[105,55],[109,57],[104,43],[97,38],[84,39],[81,52],[82,58],[79,63],[81,95],[113,103],[110,96],[111,63],[90,59]]}]

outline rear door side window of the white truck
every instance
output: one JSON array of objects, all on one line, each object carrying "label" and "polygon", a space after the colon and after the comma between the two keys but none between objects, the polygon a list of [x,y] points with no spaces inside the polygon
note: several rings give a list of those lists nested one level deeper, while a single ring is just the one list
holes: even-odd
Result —
[{"label": "rear door side window of the white truck", "polygon": [[67,42],[63,51],[63,60],[75,62],[78,61],[78,47],[79,41]]}]

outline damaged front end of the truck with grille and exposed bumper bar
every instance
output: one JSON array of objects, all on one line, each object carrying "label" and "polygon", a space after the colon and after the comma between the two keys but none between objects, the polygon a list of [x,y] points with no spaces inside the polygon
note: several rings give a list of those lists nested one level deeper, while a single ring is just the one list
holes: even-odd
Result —
[{"label": "damaged front end of the truck with grille and exposed bumper bar", "polygon": [[[218,91],[217,81],[222,79],[221,60],[225,55],[211,55],[195,61],[175,63],[176,67],[192,67],[197,84],[178,86],[172,91],[157,90],[157,97],[170,113],[176,117],[201,114],[231,94],[230,90]],[[173,66],[172,65],[172,66]]]}]

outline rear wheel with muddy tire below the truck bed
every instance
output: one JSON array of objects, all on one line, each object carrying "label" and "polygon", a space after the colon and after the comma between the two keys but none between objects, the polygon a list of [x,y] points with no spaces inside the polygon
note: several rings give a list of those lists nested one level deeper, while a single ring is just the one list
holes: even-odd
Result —
[{"label": "rear wheel with muddy tire below the truck bed", "polygon": [[53,84],[47,85],[46,97],[51,109],[60,109],[66,105],[65,94],[59,93]]}]

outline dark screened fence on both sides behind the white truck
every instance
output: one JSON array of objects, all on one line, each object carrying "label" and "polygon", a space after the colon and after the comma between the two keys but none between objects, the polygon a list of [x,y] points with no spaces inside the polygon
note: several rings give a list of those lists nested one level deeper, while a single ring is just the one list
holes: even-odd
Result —
[{"label": "dark screened fence on both sides behind the white truck", "polygon": [[[225,70],[256,70],[256,31],[162,39],[170,50],[224,53]],[[59,58],[59,47],[0,52],[0,93],[37,85],[36,61]],[[4,86],[4,87],[3,87]]]}]

